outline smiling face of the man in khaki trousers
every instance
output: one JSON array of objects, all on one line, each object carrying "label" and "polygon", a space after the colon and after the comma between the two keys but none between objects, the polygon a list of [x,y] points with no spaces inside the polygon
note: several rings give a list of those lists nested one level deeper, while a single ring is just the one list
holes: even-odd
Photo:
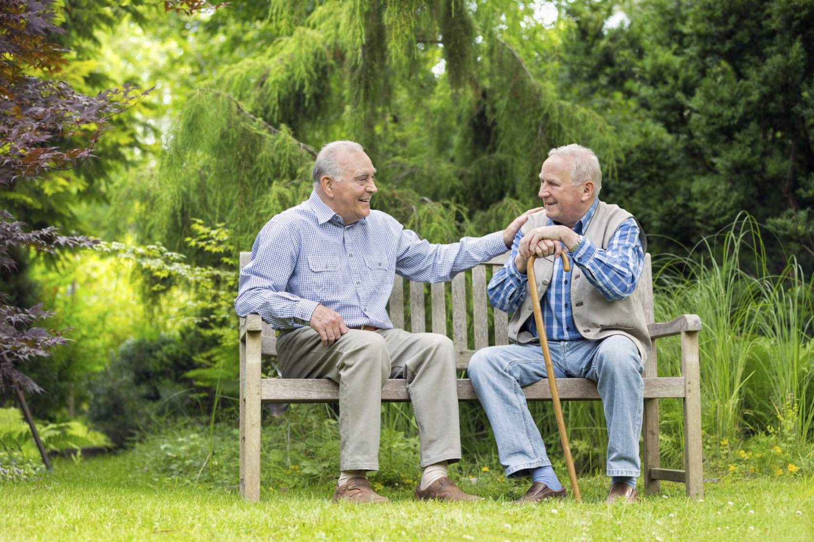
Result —
[{"label": "smiling face of the man in khaki trousers", "polygon": [[344,175],[341,180],[323,175],[320,196],[345,225],[351,225],[370,214],[370,198],[378,191],[376,168],[362,151],[339,149],[336,153]]}]

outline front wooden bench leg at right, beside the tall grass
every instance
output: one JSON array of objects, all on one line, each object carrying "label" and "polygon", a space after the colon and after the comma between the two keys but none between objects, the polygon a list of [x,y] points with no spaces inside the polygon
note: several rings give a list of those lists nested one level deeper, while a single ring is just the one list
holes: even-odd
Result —
[{"label": "front wooden bench leg at right, beside the tall grass", "polygon": [[698,331],[681,334],[681,368],[685,378],[684,471],[687,496],[704,496],[701,444],[701,372]]}]

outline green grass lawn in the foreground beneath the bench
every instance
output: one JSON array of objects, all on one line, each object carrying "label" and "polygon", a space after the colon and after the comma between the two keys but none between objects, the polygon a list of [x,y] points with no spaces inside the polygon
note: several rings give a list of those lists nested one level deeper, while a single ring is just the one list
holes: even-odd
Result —
[{"label": "green grass lawn in the foreground beneath the bench", "polygon": [[389,487],[389,505],[335,505],[330,488],[266,489],[252,504],[156,483],[128,453],[57,461],[42,480],[0,484],[0,540],[814,540],[812,479],[724,479],[706,483],[702,500],[663,485],[628,506],[602,502],[603,477],[580,479],[582,505],[514,505],[516,488],[499,479],[466,487],[485,497],[475,504],[416,502]]}]

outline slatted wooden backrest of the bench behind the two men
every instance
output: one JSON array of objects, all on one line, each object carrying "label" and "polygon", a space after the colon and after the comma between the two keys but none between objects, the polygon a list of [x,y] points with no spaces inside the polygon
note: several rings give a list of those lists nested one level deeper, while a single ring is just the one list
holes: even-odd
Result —
[{"label": "slatted wooden backrest of the bench behind the two men", "polygon": [[[466,369],[466,363],[475,350],[509,343],[509,315],[492,308],[486,295],[488,278],[497,273],[508,255],[509,252],[505,252],[484,264],[476,265],[469,271],[458,273],[452,282],[426,284],[405,281],[396,275],[387,307],[393,326],[414,333],[431,331],[449,336],[459,352],[458,369]],[[241,252],[240,269],[251,260],[251,252]],[[645,269],[637,295],[640,296],[648,323],[652,323],[654,310],[650,254],[645,256]],[[265,322],[262,338],[263,354],[276,355],[274,330]],[[654,358],[654,355],[650,357]]]}]

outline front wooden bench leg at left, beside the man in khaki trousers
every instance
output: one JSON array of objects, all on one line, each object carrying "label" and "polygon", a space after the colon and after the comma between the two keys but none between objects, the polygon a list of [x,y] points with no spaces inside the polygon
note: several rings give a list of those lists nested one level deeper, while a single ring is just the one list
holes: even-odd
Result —
[{"label": "front wooden bench leg at left, beside the man in khaki trousers", "polygon": [[249,331],[241,344],[240,492],[260,500],[260,331]]}]

